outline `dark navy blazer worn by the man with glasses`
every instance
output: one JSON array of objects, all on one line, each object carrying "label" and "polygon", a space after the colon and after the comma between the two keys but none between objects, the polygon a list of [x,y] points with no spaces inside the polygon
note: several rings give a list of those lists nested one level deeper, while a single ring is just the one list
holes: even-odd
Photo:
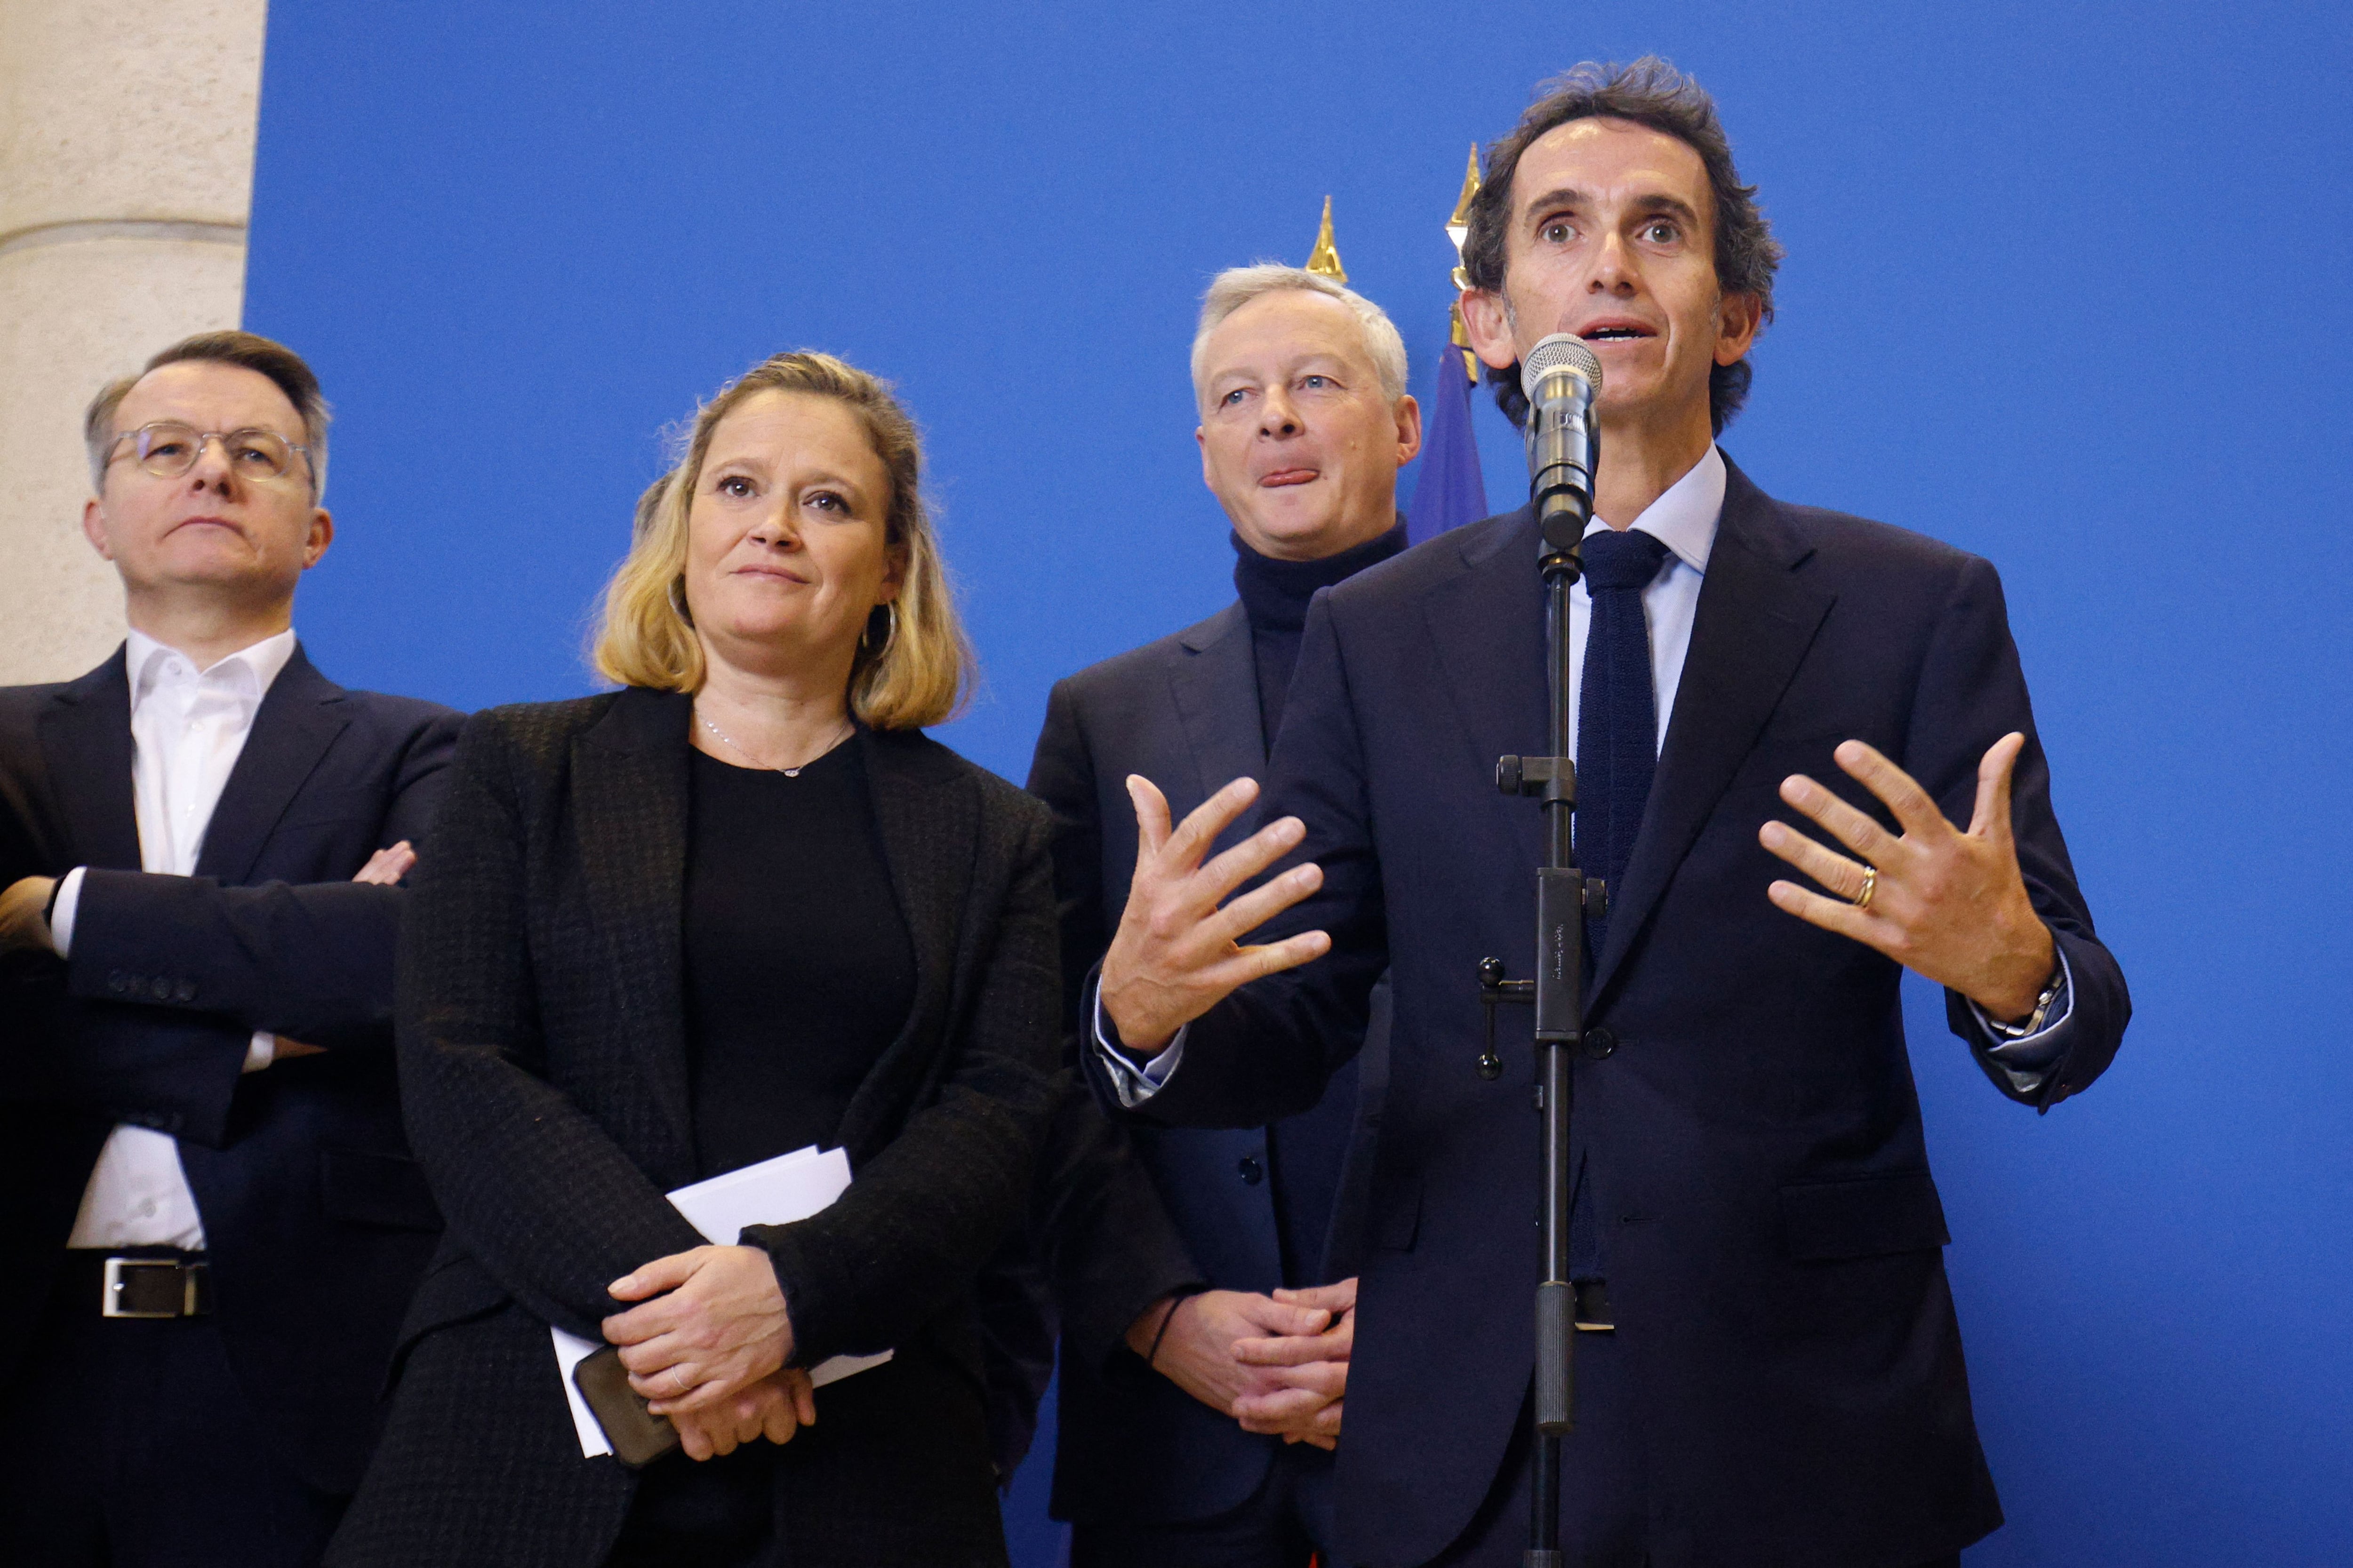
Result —
[{"label": "dark navy blazer worn by the man with glasses", "polygon": [[[108,1131],[179,1138],[221,1338],[278,1458],[360,1481],[393,1331],[440,1220],[393,1093],[402,889],[351,882],[426,837],[459,715],[344,691],[296,649],[254,715],[195,877],[139,870],[125,656],[0,691],[0,886],[87,865],[73,961],[0,1001],[0,1375],[42,1309]],[[325,1046],[245,1074],[268,1030]]]}]

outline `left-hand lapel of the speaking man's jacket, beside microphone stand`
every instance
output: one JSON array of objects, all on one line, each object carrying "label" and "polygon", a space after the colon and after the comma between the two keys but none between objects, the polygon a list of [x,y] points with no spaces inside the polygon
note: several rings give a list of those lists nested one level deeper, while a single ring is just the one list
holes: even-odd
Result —
[{"label": "left-hand lapel of the speaking man's jacket, beside microphone stand", "polygon": [[[1497,757],[1541,755],[1546,745],[1537,517],[1520,508],[1459,536],[1464,571],[1424,595],[1424,616],[1471,757],[1492,776]],[[1532,870],[1544,853],[1544,813],[1532,802],[1506,802],[1506,816]]]}]

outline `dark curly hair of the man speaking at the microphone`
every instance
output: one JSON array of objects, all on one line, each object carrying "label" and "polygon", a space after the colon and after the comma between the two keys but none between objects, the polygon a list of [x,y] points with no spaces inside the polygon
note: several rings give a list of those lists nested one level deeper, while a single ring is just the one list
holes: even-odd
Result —
[{"label": "dark curly hair of the man speaking at the microphone", "polygon": [[[1504,235],[1511,228],[1511,179],[1520,155],[1537,136],[1593,115],[1647,125],[1699,153],[1708,190],[1715,195],[1715,284],[1725,294],[1753,296],[1758,322],[1769,322],[1772,275],[1784,252],[1758,207],[1758,188],[1744,186],[1739,169],[1732,167],[1732,143],[1715,118],[1715,99],[1657,54],[1645,54],[1631,66],[1584,61],[1555,75],[1537,89],[1537,101],[1520,115],[1520,125],[1487,148],[1487,172],[1478,195],[1471,197],[1471,233],[1464,237],[1464,275],[1471,287],[1492,294],[1504,289]],[[1718,435],[1748,400],[1751,374],[1746,357],[1708,371],[1708,418]],[[1522,423],[1527,397],[1520,393],[1520,367],[1489,364],[1487,383],[1511,423]]]}]

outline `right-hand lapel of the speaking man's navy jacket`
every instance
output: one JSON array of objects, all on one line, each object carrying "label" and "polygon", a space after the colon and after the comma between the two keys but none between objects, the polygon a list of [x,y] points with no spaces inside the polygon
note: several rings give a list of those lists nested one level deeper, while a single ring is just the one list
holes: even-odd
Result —
[{"label": "right-hand lapel of the speaking man's navy jacket", "polygon": [[1609,938],[1593,966],[1595,999],[1755,748],[1835,597],[1793,574],[1812,548],[1788,531],[1765,491],[1729,461],[1727,468],[1725,510],[1699,588],[1675,717],[1624,886],[1609,889]]}]

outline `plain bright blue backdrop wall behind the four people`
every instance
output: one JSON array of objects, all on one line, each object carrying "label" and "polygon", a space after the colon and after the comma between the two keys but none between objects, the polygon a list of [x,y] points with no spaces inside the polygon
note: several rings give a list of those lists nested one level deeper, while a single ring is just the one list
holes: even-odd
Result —
[{"label": "plain bright blue backdrop wall behind the four people", "polygon": [[[1727,449],[2007,578],[2139,1018],[2038,1119],[1913,997],[2012,1563],[2353,1559],[2344,1025],[2353,24],[2301,5],[275,7],[247,324],[336,400],[301,630],[586,691],[661,430],[776,348],[899,378],[1021,776],[1045,689],[1231,592],[1186,343],[1322,197],[1428,388],[1473,139],[1581,56],[1715,89],[1791,249]],[[1525,477],[1480,414],[1489,496]],[[1407,475],[1409,494],[1412,475]],[[1009,1502],[1047,1563],[1042,1476]]]}]

